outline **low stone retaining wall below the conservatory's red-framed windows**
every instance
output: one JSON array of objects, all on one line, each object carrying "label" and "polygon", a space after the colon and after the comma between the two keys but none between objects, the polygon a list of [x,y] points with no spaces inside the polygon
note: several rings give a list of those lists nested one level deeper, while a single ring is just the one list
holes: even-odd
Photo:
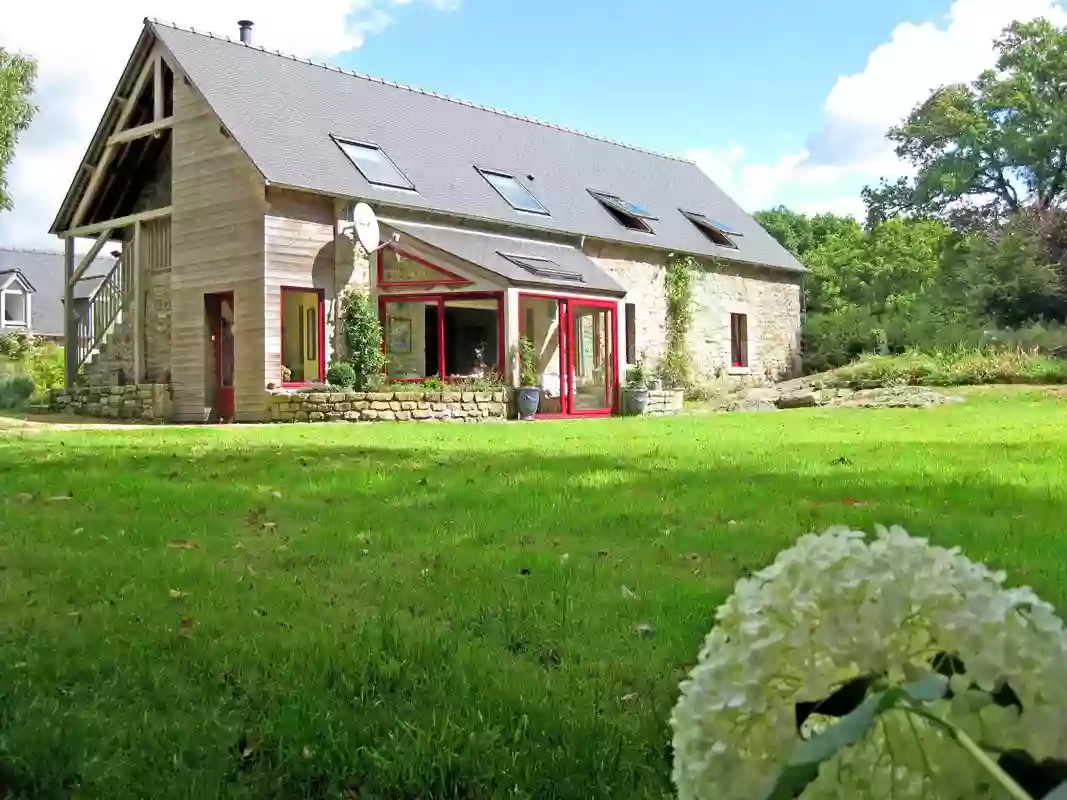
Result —
[{"label": "low stone retaining wall below the conservatory's red-framed windows", "polygon": [[272,422],[407,422],[506,419],[506,391],[312,391],[267,397]]}]

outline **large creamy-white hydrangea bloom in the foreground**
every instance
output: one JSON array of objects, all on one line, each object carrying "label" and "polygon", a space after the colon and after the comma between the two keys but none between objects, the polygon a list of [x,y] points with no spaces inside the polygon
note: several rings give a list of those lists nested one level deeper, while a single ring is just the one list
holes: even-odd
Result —
[{"label": "large creamy-white hydrangea bloom in the foreground", "polygon": [[[1067,633],[1030,589],[958,549],[933,547],[902,528],[831,528],[806,535],[775,562],[737,582],[719,608],[697,667],[671,717],[674,783],[681,800],[752,800],[799,739],[795,704],[831,694],[860,675],[904,682],[954,653],[966,681],[931,710],[983,743],[1067,753]],[[1007,682],[1023,714],[990,702]],[[813,717],[813,730],[832,723]],[[1000,797],[954,741],[902,711],[825,763],[808,798]]]}]

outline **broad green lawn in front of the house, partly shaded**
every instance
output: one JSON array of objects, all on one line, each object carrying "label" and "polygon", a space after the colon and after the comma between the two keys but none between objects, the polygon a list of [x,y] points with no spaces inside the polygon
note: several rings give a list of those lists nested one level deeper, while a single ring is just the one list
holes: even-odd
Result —
[{"label": "broad green lawn in front of the house, partly shaded", "polygon": [[1067,402],[1041,391],[9,432],[0,470],[0,797],[669,797],[716,606],[834,523],[1067,607]]}]

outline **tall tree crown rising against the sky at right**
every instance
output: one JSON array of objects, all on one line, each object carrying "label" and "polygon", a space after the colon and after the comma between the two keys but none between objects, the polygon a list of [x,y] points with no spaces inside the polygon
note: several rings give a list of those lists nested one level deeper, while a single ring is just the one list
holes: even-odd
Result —
[{"label": "tall tree crown rising against the sky at right", "polygon": [[973,227],[1067,203],[1067,28],[1014,22],[997,66],[942,86],[889,131],[912,180],[867,187],[869,224],[898,213]]}]

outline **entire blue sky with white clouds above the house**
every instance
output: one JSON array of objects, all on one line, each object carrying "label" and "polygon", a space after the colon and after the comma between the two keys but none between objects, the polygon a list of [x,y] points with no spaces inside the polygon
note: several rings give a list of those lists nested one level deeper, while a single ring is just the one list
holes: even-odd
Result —
[{"label": "entire blue sky with white clouds above the house", "polygon": [[[898,176],[885,132],[992,64],[1013,19],[1067,0],[51,0],[5,14],[37,58],[41,111],[9,181],[0,246],[46,233],[145,15],[687,156],[749,211],[862,214]],[[62,6],[62,7],[60,7]],[[62,12],[64,25],[54,18]]]}]

